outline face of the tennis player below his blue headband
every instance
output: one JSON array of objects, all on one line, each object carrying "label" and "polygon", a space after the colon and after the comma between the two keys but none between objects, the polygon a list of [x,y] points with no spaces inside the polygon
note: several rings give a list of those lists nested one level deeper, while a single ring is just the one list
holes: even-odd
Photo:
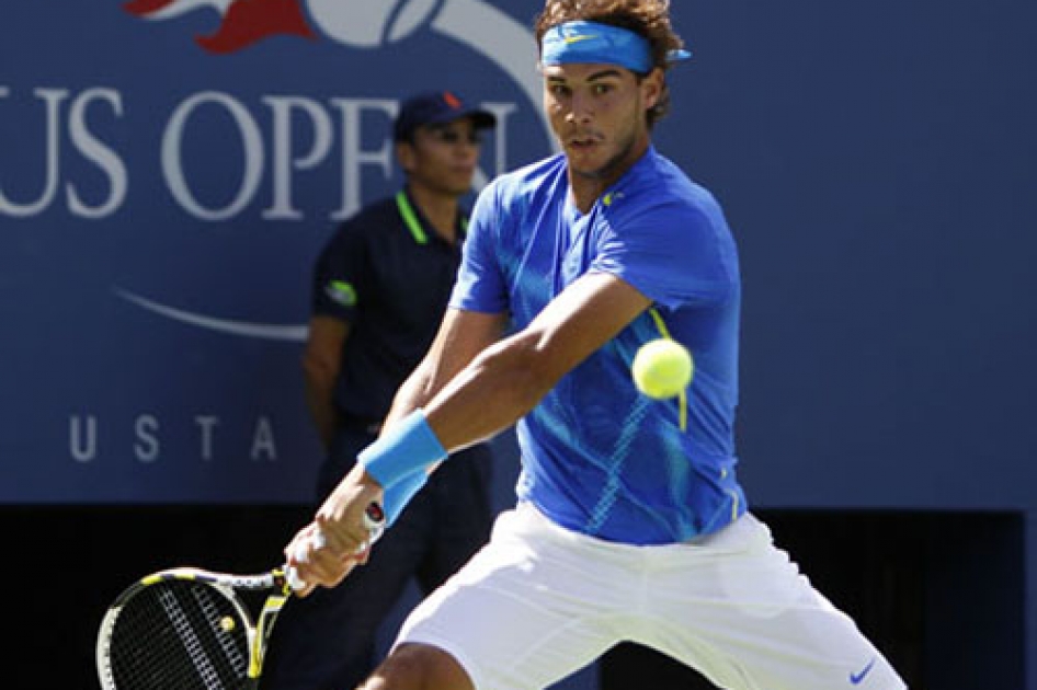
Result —
[{"label": "face of the tennis player below his blue headband", "polygon": [[661,73],[638,81],[614,65],[544,67],[544,106],[571,175],[607,185],[648,148],[646,111],[659,97]]}]

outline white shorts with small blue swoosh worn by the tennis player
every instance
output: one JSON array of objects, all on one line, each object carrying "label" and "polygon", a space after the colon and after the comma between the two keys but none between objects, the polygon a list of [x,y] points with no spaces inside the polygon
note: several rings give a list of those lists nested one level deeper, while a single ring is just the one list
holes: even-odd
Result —
[{"label": "white shorts with small blue swoosh worn by the tennis player", "polygon": [[407,619],[396,644],[448,652],[477,690],[545,688],[637,642],[737,690],[905,688],[751,515],[695,543],[634,547],[532,505]]}]

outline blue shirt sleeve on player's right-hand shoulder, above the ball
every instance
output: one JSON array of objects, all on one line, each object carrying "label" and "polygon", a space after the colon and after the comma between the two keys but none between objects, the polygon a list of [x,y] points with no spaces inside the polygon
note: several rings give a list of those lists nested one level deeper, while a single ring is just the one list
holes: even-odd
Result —
[{"label": "blue shirt sleeve on player's right-hand shoulder, above the ball", "polygon": [[658,205],[613,221],[591,271],[623,278],[671,309],[720,304],[734,294],[738,258],[719,207]]}]

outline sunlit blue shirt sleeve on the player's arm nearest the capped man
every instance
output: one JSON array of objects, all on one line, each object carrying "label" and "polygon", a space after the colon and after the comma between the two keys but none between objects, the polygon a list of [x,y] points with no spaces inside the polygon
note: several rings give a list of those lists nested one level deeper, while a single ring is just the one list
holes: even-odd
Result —
[{"label": "sunlit blue shirt sleeve on the player's arm nearest the capped man", "polygon": [[508,287],[499,261],[498,243],[505,223],[499,187],[499,181],[490,183],[476,199],[451,295],[454,309],[494,314],[508,310]]}]

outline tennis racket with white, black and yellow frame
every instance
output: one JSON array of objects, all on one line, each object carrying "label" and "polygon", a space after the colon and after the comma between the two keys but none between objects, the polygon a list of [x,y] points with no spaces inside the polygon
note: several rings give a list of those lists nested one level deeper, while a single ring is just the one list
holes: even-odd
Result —
[{"label": "tennis racket with white, black and yellow frame", "polygon": [[[385,514],[367,508],[368,544]],[[127,587],[109,607],[98,634],[103,690],[247,690],[257,688],[277,614],[304,587],[285,566],[255,575],[175,567]],[[253,623],[247,593],[265,594]]]}]

